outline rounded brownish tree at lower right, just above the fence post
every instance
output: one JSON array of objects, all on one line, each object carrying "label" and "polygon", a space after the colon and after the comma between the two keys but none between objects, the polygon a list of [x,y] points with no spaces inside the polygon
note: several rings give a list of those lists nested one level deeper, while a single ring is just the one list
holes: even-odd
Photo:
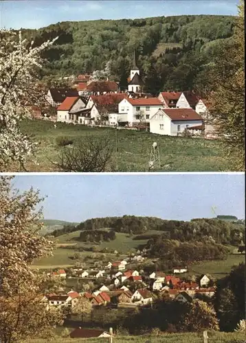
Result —
[{"label": "rounded brownish tree at lower right, just above the fence post", "polygon": [[202,300],[193,300],[184,316],[181,327],[184,331],[219,330],[219,322],[212,305]]}]

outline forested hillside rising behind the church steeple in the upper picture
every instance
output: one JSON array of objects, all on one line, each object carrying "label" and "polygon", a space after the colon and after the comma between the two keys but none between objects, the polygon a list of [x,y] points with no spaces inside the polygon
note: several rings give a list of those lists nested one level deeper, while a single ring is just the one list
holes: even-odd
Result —
[{"label": "forested hillside rising behind the church steeple in the upper picture", "polygon": [[91,73],[111,61],[111,78],[126,84],[137,52],[145,91],[183,90],[199,86],[220,45],[233,34],[233,16],[159,16],[63,22],[38,30],[23,30],[35,44],[59,36],[45,53],[44,75]]}]

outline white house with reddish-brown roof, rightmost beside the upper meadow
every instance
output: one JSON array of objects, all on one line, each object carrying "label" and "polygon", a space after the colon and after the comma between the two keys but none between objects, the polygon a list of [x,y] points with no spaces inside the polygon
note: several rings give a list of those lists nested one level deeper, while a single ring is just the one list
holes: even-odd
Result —
[{"label": "white house with reddish-brown roof, rightmost beside the upper meadow", "polygon": [[202,117],[192,108],[163,108],[150,119],[150,132],[177,136],[192,126],[202,124]]}]

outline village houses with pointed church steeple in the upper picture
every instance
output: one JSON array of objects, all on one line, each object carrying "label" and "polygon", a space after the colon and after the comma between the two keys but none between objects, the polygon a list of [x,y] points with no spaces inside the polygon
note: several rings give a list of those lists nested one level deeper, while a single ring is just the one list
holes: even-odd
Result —
[{"label": "village houses with pointed church steeple in the upper picture", "polygon": [[36,106],[32,106],[32,115],[74,125],[216,138],[208,102],[196,92],[163,91],[156,97],[143,93],[144,82],[135,54],[127,81],[128,88],[122,91],[118,82],[109,81],[109,78],[94,81],[91,75],[78,75],[73,78],[72,88],[49,88],[47,91],[45,99],[54,108],[52,115]]}]

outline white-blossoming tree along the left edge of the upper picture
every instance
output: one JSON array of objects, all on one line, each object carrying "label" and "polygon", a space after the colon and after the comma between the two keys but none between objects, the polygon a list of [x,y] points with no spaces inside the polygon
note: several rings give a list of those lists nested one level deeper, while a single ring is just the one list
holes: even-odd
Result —
[{"label": "white-blossoming tree along the left edge of the upper picture", "polygon": [[10,163],[25,169],[27,157],[34,153],[36,143],[21,132],[19,122],[30,115],[28,106],[38,104],[41,52],[55,40],[33,47],[34,42],[27,43],[21,32],[18,37],[12,30],[0,30],[0,170]]}]

